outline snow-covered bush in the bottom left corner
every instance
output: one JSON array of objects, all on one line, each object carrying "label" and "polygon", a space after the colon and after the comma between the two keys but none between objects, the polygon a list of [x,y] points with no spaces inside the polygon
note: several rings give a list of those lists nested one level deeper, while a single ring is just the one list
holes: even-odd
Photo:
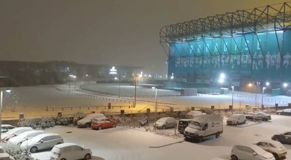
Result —
[{"label": "snow-covered bush in the bottom left corner", "polygon": [[31,154],[26,149],[11,143],[0,143],[3,150],[16,160],[35,160],[31,157]]}]

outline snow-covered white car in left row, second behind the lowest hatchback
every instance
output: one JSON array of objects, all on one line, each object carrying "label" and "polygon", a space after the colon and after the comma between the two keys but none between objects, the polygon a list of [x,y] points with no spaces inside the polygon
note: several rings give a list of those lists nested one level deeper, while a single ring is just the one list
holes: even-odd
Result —
[{"label": "snow-covered white car in left row, second behind the lowest hatchback", "polygon": [[22,144],[22,142],[26,141],[26,140],[30,140],[33,137],[43,134],[44,131],[43,130],[30,130],[30,131],[26,131],[23,132],[21,134],[19,134],[16,137],[12,137],[8,140],[9,143],[13,143],[13,144]]}]

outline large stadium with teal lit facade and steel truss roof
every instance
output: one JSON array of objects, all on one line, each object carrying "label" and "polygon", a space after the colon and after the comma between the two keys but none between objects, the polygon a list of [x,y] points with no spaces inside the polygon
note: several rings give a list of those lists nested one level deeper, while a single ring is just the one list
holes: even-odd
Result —
[{"label": "large stadium with teal lit facade and steel truss roof", "polygon": [[160,43],[172,82],[291,86],[291,2],[167,25]]}]

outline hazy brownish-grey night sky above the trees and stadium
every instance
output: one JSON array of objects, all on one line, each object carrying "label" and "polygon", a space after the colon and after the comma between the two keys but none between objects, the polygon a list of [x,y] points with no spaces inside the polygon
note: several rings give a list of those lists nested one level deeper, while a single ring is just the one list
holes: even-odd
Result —
[{"label": "hazy brownish-grey night sky above the trees and stadium", "polygon": [[0,60],[144,66],[166,73],[164,25],[284,0],[0,0]]}]

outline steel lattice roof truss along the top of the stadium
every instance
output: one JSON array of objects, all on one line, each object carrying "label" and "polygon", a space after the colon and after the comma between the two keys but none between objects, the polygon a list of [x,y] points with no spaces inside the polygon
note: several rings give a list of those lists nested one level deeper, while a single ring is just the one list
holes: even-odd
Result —
[{"label": "steel lattice roof truss along the top of the stadium", "polygon": [[286,30],[291,30],[291,1],[167,25],[160,30],[160,43],[168,55],[168,43]]}]

